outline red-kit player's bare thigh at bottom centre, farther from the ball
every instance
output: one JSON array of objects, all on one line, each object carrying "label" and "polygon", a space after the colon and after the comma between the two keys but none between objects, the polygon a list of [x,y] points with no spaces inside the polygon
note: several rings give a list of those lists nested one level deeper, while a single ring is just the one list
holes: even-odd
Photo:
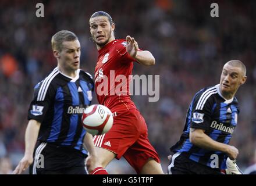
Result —
[{"label": "red-kit player's bare thigh at bottom centre, farther from the ball", "polygon": [[148,162],[144,164],[140,174],[163,174],[163,170],[160,163],[150,158]]}]

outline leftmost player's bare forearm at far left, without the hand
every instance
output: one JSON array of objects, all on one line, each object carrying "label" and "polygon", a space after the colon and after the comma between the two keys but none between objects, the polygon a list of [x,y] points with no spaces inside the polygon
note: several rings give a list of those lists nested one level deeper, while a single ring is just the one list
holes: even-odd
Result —
[{"label": "leftmost player's bare forearm at far left, without the hand", "polygon": [[25,155],[33,156],[35,143],[39,133],[41,123],[36,120],[29,120],[25,133]]}]

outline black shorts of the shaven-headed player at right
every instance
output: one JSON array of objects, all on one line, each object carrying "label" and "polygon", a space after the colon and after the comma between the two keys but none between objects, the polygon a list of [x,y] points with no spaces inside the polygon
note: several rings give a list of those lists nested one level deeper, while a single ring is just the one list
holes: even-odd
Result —
[{"label": "black shorts of the shaven-headed player at right", "polygon": [[183,153],[175,153],[168,166],[168,174],[222,174],[220,169],[213,169],[194,162]]}]

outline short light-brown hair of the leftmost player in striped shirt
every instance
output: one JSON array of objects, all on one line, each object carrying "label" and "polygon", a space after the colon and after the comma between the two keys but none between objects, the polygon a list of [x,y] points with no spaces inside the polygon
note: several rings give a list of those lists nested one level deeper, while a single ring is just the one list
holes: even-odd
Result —
[{"label": "short light-brown hair of the leftmost player in striped shirt", "polygon": [[52,50],[62,51],[62,43],[64,41],[74,41],[78,40],[76,34],[72,33],[72,31],[61,30],[58,33],[52,36]]}]

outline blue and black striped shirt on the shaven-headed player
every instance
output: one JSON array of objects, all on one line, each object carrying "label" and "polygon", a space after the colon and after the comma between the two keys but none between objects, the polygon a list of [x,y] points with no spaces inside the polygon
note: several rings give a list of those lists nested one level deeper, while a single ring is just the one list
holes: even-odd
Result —
[{"label": "blue and black striped shirt on the shaven-headed player", "polygon": [[[170,148],[172,152],[182,152],[194,162],[211,167],[211,162],[218,156],[220,169],[226,169],[227,155],[219,151],[209,151],[191,144],[190,127],[205,130],[212,140],[229,144],[239,114],[235,97],[226,100],[219,91],[219,84],[204,88],[195,94],[187,111],[186,123],[180,141]],[[212,156],[214,155],[214,156]]]}]

